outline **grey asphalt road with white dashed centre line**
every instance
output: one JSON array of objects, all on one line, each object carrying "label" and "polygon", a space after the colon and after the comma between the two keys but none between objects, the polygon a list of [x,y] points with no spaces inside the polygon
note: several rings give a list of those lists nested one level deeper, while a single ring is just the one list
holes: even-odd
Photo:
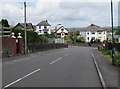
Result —
[{"label": "grey asphalt road with white dashed centre line", "polygon": [[92,48],[69,47],[3,64],[3,87],[101,87]]}]

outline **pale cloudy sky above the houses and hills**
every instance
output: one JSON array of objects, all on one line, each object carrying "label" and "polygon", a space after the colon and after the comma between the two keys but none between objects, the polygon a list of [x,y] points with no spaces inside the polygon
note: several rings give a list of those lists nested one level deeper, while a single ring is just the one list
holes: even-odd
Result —
[{"label": "pale cloudy sky above the houses and hills", "polygon": [[[27,22],[38,24],[48,20],[54,28],[87,27],[91,23],[110,26],[110,2],[106,0],[24,0],[27,2]],[[23,0],[3,0],[0,5],[0,19],[8,19],[10,25],[24,22]],[[110,0],[109,0],[110,1]],[[118,25],[118,0],[114,4],[114,25]]]}]

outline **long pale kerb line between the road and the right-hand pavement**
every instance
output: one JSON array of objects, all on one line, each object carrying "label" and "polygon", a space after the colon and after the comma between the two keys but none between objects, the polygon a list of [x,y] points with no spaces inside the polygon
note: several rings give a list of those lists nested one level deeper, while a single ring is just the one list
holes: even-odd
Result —
[{"label": "long pale kerb line between the road and the right-hand pavement", "polygon": [[94,64],[95,64],[95,67],[96,67],[96,69],[97,69],[97,72],[98,72],[98,75],[99,75],[101,84],[102,84],[102,86],[103,86],[103,89],[106,89],[106,84],[105,84],[104,78],[103,78],[103,76],[102,76],[102,73],[101,73],[101,71],[100,71],[100,69],[99,69],[99,67],[98,67],[97,61],[96,61],[95,56],[94,56],[94,54],[93,54],[92,51],[91,51],[91,54],[92,54],[92,57],[93,57],[93,60],[94,60]]}]

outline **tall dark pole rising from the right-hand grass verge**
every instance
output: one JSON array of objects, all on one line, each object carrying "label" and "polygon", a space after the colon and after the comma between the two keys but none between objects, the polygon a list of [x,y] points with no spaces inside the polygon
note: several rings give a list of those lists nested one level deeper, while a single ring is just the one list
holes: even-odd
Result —
[{"label": "tall dark pole rising from the right-hand grass verge", "polygon": [[112,65],[115,64],[115,50],[114,50],[114,31],[113,31],[113,2],[111,0],[111,23],[112,23]]}]

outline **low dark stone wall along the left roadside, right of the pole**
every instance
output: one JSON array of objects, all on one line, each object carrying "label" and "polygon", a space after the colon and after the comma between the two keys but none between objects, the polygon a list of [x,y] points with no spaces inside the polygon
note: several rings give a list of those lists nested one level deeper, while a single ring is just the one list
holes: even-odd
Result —
[{"label": "low dark stone wall along the left roadside, right of the pole", "polygon": [[46,51],[50,49],[58,49],[58,48],[65,48],[68,47],[67,44],[63,43],[48,43],[48,44],[28,44],[28,51],[29,52],[40,52]]}]

